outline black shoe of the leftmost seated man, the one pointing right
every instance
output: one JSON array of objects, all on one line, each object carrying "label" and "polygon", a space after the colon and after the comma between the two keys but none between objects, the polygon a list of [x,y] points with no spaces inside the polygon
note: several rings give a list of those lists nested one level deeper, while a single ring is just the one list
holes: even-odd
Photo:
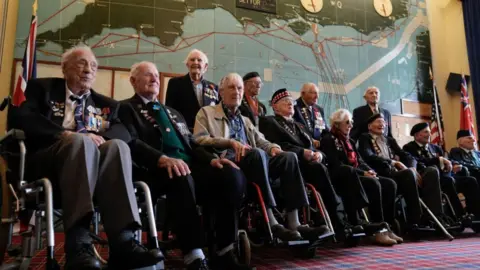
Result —
[{"label": "black shoe of the leftmost seated man, the one pointing right", "polygon": [[141,268],[156,265],[164,259],[160,250],[148,250],[132,238],[130,241],[119,244],[118,246],[110,247],[108,268],[119,270]]}]

